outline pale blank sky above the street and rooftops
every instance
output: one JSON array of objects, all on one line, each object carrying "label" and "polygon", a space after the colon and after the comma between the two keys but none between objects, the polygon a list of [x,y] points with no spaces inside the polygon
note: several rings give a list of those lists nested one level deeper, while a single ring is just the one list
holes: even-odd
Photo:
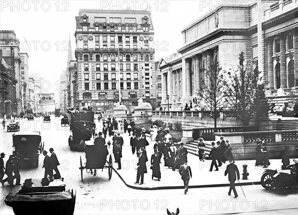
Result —
[{"label": "pale blank sky above the street and rooftops", "polygon": [[[239,1],[240,2],[240,1]],[[75,16],[80,8],[88,9],[147,9],[151,6],[154,27],[155,61],[181,48],[181,30],[219,6],[216,0],[27,0],[0,1],[0,29],[14,30],[21,52],[29,55],[29,73],[39,73],[52,83],[60,80],[66,70],[68,41],[75,50]]]}]

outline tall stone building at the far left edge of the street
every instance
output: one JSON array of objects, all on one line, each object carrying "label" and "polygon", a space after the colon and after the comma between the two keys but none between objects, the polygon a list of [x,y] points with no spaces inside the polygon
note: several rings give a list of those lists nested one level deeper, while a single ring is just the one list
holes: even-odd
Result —
[{"label": "tall stone building at the far left edge of the street", "polygon": [[[20,55],[19,40],[16,38],[15,32],[10,30],[0,30],[0,50],[1,61],[8,66],[5,70],[1,70],[1,84],[4,86],[4,114],[16,115],[22,111],[21,85],[20,79]],[[3,63],[1,62],[1,65]],[[4,68],[3,68],[4,69]],[[3,72],[3,73],[2,73]],[[6,90],[5,90],[6,89]]]}]

